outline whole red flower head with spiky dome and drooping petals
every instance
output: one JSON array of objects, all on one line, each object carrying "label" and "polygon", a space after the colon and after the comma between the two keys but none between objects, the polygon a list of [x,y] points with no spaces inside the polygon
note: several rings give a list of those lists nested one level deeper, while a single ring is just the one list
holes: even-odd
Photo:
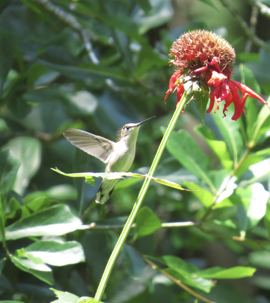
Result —
[{"label": "whole red flower head with spiky dome and drooping petals", "polygon": [[[227,107],[234,103],[235,113],[232,120],[237,120],[243,111],[245,113],[244,105],[248,96],[267,104],[262,97],[246,85],[231,80],[235,51],[228,41],[220,36],[205,30],[187,32],[173,43],[170,57],[173,56],[175,58],[170,62],[178,69],[170,78],[169,89],[164,100],[170,92],[176,89],[178,104],[185,88],[190,87],[187,83],[197,82],[201,87],[201,94],[205,95],[207,92],[210,97],[207,113],[212,111],[214,105],[216,105],[214,112],[218,110],[219,102],[224,101],[223,114],[226,116]],[[240,97],[239,91],[242,97]],[[207,102],[208,98],[204,98],[203,107],[205,109]],[[267,106],[269,107],[268,104]]]}]

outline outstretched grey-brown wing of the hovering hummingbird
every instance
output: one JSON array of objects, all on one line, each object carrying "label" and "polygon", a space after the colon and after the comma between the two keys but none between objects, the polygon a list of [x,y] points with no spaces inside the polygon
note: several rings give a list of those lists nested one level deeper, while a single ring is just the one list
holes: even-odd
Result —
[{"label": "outstretched grey-brown wing of the hovering hummingbird", "polygon": [[108,163],[115,144],[113,141],[74,128],[66,130],[63,135],[71,144],[79,147],[87,154]]}]

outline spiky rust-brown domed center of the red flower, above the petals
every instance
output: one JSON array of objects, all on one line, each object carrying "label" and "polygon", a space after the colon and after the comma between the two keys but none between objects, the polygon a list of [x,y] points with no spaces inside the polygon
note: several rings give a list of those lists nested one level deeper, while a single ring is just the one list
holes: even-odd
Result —
[{"label": "spiky rust-brown domed center of the red flower, above the petals", "polygon": [[[224,38],[205,30],[194,30],[181,35],[170,49],[171,63],[189,73],[208,66],[215,57],[218,59],[220,72],[231,77],[231,69],[235,63],[234,48]],[[229,79],[228,79],[229,80]]]}]

